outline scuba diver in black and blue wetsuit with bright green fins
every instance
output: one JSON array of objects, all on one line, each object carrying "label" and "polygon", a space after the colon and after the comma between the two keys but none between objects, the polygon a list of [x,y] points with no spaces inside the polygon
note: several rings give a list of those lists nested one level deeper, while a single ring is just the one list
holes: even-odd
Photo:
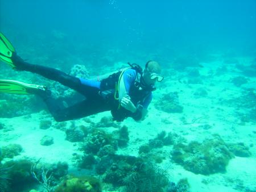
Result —
[{"label": "scuba diver in black and blue wetsuit with bright green fins", "polygon": [[73,77],[54,68],[30,64],[17,55],[13,45],[1,32],[0,59],[15,70],[39,74],[85,96],[84,101],[64,107],[56,102],[45,86],[0,80],[2,93],[38,95],[57,122],[79,119],[103,111],[111,111],[113,120],[118,122],[127,117],[143,120],[152,100],[152,91],[156,89],[155,82],[163,81],[160,65],[156,61],[148,61],[144,69],[129,63],[129,68],[120,69],[101,81]]}]

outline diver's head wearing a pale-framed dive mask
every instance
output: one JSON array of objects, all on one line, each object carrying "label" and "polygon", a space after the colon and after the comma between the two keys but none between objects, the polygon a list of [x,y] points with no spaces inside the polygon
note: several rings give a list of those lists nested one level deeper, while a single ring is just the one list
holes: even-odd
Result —
[{"label": "diver's head wearing a pale-framed dive mask", "polygon": [[154,86],[155,82],[163,81],[163,76],[160,76],[161,67],[156,61],[147,61],[142,74],[142,83],[146,86]]}]

